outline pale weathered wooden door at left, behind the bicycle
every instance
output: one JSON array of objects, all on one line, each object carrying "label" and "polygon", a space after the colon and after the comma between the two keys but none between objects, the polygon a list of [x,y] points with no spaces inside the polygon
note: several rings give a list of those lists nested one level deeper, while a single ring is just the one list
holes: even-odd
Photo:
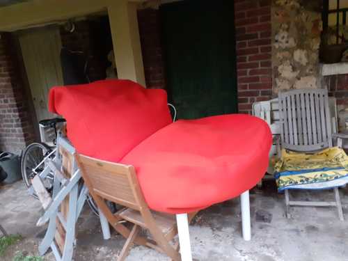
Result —
[{"label": "pale weathered wooden door at left, behind the bicycle", "polygon": [[36,118],[54,115],[47,109],[49,88],[63,85],[61,35],[58,26],[28,29],[18,34]]}]

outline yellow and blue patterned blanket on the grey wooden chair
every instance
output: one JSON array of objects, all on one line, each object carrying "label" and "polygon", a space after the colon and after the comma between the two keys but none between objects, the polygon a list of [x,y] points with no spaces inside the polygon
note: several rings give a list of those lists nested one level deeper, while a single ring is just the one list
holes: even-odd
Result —
[{"label": "yellow and blue patterned blanket on the grey wooden chair", "polygon": [[[278,191],[324,189],[348,183],[348,157],[338,147],[315,154],[283,150],[282,157],[274,168]],[[308,186],[309,184],[313,186]]]}]

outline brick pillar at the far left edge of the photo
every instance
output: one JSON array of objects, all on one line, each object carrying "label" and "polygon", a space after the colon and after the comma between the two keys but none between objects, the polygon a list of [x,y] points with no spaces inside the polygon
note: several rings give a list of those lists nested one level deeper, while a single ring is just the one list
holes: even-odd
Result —
[{"label": "brick pillar at the far left edge of the photo", "polygon": [[17,154],[33,142],[34,131],[24,95],[13,36],[0,34],[0,150]]}]

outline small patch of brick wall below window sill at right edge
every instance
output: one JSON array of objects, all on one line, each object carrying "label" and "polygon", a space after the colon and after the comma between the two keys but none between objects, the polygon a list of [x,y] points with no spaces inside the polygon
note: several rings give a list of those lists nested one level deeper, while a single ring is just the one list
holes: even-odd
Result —
[{"label": "small patch of brick wall below window sill at right edge", "polygon": [[329,95],[336,97],[340,107],[348,108],[348,74],[324,77],[329,88]]}]

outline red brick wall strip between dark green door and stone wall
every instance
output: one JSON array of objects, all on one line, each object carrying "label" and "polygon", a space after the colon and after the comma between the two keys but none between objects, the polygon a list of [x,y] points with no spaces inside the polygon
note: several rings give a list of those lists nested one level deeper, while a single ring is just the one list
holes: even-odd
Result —
[{"label": "red brick wall strip between dark green door and stone wall", "polygon": [[271,0],[235,0],[238,109],[272,95]]}]

